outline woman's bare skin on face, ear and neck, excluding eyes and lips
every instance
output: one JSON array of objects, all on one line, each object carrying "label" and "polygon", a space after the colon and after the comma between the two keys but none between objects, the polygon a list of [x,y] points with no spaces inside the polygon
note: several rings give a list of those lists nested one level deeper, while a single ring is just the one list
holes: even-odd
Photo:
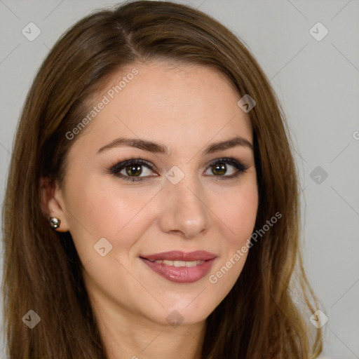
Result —
[{"label": "woman's bare skin on face, ear and neck, excluding eyes and lips", "polygon": [[[132,65],[114,74],[94,104],[133,68],[137,76],[72,140],[65,180],[48,196],[48,213],[61,219],[58,231],[72,234],[110,359],[197,359],[206,318],[233,287],[248,252],[217,283],[209,276],[250,238],[258,206],[252,149],[203,150],[234,135],[252,144],[252,127],[229,81],[198,65]],[[169,154],[134,147],[97,154],[118,137],[151,140]],[[111,174],[111,165],[132,157],[154,164],[154,171],[142,166],[142,182]],[[220,180],[211,163],[222,157],[248,169]],[[174,165],[184,173],[178,184],[165,177]],[[234,172],[226,163],[224,175]],[[104,257],[94,250],[100,238],[112,245]],[[139,258],[170,250],[206,250],[217,258],[196,283],[173,283]],[[172,311],[181,325],[166,320]]]}]

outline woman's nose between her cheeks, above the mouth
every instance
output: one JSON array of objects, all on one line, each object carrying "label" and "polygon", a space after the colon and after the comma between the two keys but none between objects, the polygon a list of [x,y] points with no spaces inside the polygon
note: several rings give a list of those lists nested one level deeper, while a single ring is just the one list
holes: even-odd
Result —
[{"label": "woman's nose between her cheeks, above the mouth", "polygon": [[198,179],[185,176],[181,182],[165,182],[161,191],[159,225],[165,233],[194,238],[208,229],[209,208]]}]

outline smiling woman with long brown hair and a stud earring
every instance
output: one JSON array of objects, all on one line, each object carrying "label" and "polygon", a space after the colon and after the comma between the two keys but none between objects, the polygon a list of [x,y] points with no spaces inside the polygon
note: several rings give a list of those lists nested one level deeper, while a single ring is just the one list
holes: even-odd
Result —
[{"label": "smiling woman with long brown hair and a stud earring", "polygon": [[15,138],[9,358],[316,358],[299,216],[243,44],[184,5],[97,11],[50,51]]}]

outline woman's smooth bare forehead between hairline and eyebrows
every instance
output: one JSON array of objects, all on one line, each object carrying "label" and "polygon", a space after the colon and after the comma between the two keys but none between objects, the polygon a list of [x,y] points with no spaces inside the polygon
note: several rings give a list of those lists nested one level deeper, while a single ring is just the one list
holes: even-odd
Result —
[{"label": "woman's smooth bare forehead between hairline and eyebrows", "polygon": [[89,116],[86,136],[76,142],[97,149],[123,136],[173,149],[233,135],[252,142],[250,117],[237,105],[240,97],[229,80],[210,67],[133,64],[114,73],[97,94],[88,109],[95,116]]}]

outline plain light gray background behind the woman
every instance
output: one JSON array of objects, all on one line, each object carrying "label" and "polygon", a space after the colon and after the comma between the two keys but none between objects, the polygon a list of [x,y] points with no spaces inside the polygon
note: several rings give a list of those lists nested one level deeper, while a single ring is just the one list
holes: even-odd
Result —
[{"label": "plain light gray background behind the woman", "polygon": [[[359,1],[178,2],[229,27],[271,79],[294,134],[306,271],[329,318],[323,358],[359,358]],[[0,203],[36,69],[65,29],[116,3],[0,0]],[[34,41],[22,34],[29,22],[41,29]],[[321,41],[309,32],[317,22],[329,31]]]}]

